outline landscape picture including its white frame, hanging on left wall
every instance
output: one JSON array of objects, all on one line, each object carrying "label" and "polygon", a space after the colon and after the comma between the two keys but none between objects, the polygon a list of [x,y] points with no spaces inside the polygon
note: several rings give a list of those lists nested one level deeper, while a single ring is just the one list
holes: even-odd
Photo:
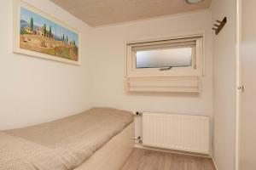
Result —
[{"label": "landscape picture including its white frame, hanging on left wall", "polygon": [[14,0],[14,52],[80,65],[79,32],[38,8]]}]

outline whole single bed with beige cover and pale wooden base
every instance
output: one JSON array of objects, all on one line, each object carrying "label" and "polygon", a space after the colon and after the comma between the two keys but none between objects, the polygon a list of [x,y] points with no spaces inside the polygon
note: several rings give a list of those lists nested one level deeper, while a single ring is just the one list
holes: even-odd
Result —
[{"label": "whole single bed with beige cover and pale wooden base", "polygon": [[129,111],[93,108],[0,132],[0,169],[119,170],[133,148]]}]

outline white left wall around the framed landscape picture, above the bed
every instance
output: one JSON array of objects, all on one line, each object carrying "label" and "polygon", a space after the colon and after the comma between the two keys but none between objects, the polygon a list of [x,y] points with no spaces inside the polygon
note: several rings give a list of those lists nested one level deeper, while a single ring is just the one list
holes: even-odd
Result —
[{"label": "white left wall around the framed landscape picture, above the bed", "polygon": [[12,52],[13,1],[0,5],[0,129],[48,122],[90,107],[90,27],[47,0],[27,0],[82,33],[82,66]]}]

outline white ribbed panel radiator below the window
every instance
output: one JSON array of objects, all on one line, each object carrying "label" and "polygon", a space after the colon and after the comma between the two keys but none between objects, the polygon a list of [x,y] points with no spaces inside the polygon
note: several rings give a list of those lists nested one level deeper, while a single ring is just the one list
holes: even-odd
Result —
[{"label": "white ribbed panel radiator below the window", "polygon": [[143,145],[210,153],[210,118],[143,112]]}]

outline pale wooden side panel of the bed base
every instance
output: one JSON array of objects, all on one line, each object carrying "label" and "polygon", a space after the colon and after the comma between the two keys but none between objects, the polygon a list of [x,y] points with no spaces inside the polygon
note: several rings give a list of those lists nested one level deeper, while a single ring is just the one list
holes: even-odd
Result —
[{"label": "pale wooden side panel of the bed base", "polygon": [[119,170],[133,150],[133,122],[74,170]]}]

